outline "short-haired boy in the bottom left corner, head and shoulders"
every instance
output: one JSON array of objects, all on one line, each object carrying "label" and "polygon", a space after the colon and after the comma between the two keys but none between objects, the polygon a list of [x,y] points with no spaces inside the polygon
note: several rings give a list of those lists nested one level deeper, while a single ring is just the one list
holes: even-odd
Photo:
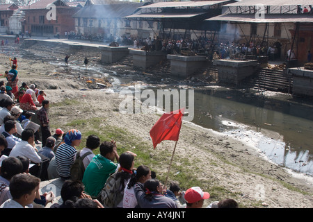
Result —
[{"label": "short-haired boy in the bottom left corner, head and shoulders", "polygon": [[10,180],[11,199],[6,200],[0,208],[26,208],[35,200],[40,179],[30,174],[20,173]]}]

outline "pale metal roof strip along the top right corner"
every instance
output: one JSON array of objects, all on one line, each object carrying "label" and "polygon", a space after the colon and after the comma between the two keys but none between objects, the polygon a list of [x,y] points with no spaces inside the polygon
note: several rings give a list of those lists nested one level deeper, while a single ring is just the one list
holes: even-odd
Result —
[{"label": "pale metal roof strip along the top right corner", "polygon": [[235,3],[230,3],[227,6],[308,6],[313,5],[312,0],[242,0]]}]

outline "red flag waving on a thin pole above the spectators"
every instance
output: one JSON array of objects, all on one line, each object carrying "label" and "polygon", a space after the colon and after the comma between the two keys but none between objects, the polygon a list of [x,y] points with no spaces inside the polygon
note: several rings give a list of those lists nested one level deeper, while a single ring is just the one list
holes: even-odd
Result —
[{"label": "red flag waving on a thin pole above the spectators", "polygon": [[185,108],[182,108],[180,110],[164,113],[157,123],[152,126],[150,136],[154,149],[157,144],[161,143],[163,140],[178,140],[184,110]]}]

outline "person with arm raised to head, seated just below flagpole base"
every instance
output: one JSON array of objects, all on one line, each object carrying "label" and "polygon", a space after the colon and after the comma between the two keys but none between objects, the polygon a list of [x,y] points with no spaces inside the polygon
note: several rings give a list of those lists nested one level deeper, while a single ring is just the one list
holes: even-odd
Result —
[{"label": "person with arm raised to head, seated just below flagpole base", "polygon": [[144,186],[136,183],[134,191],[141,208],[177,208],[174,200],[163,196],[163,185],[159,180],[147,180]]}]

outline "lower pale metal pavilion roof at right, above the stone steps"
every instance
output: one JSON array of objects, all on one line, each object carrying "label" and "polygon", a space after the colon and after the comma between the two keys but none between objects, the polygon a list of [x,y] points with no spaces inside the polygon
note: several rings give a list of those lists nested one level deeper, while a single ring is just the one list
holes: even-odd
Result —
[{"label": "lower pale metal pavilion roof at right, above the stone steps", "polygon": [[282,22],[309,22],[313,23],[310,14],[267,14],[258,18],[255,14],[224,14],[206,19],[206,21],[248,22],[248,23],[282,23]]}]

